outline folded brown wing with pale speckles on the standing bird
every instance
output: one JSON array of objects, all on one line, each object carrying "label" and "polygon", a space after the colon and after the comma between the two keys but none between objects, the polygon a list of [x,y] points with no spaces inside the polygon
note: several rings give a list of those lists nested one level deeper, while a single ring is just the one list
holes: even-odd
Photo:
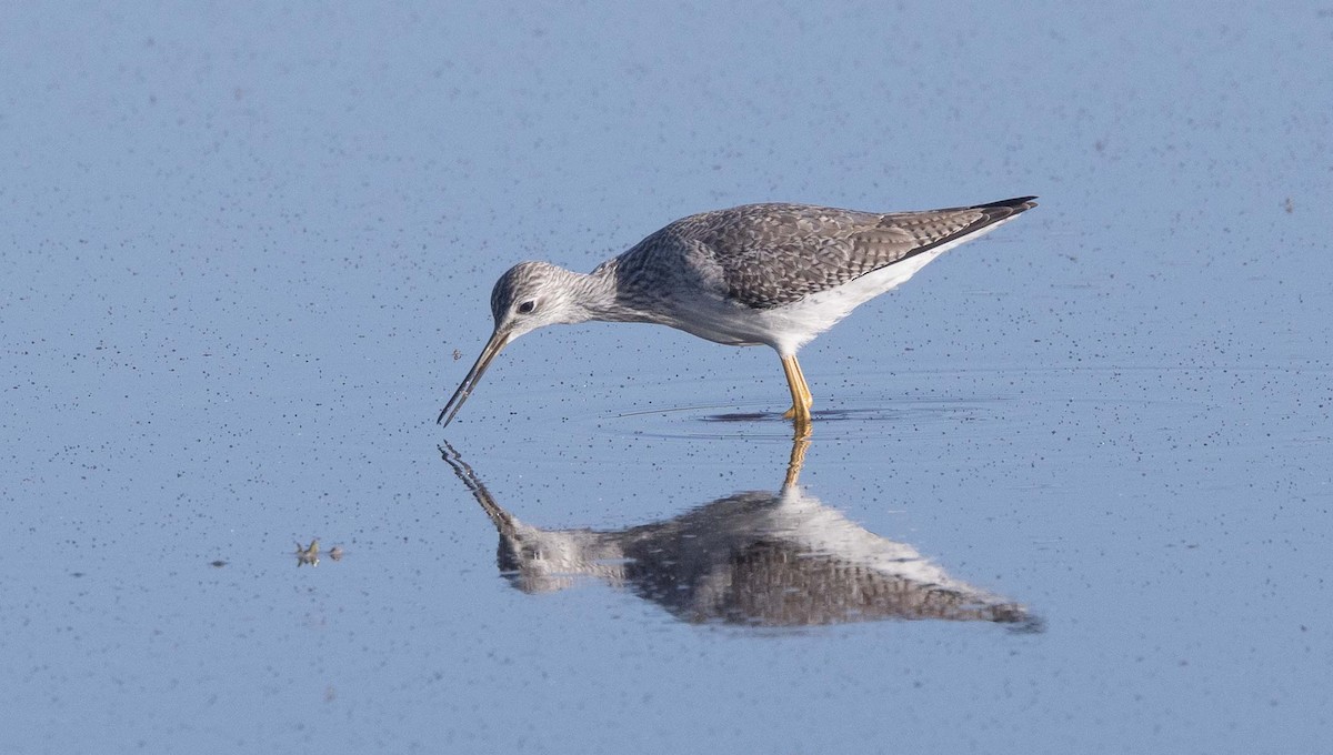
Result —
[{"label": "folded brown wing with pale speckles on the standing bird", "polygon": [[888,214],[806,205],[745,205],[678,220],[653,237],[660,237],[659,244],[672,238],[702,246],[721,273],[730,300],[772,309],[962,241],[1036,206],[1030,198]]}]

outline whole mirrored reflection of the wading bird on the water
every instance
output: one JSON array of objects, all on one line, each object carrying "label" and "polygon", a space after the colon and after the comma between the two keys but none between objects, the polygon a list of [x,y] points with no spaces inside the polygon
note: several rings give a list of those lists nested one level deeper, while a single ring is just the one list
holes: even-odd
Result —
[{"label": "whole mirrored reflection of the wading bird on the water", "polygon": [[876,619],[1041,621],[960,582],[916,549],[881,538],[796,485],[740,493],[673,519],[616,531],[543,530],[501,509],[452,449],[444,459],[500,533],[500,570],[525,593],[595,577],[689,622],[808,626]]}]

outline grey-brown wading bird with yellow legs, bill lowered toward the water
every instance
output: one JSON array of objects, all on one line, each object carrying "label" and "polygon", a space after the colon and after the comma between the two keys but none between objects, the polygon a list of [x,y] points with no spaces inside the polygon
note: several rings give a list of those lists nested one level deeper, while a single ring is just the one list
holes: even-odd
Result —
[{"label": "grey-brown wading bird with yellow legs, bill lowered toward the water", "polygon": [[729,346],[770,346],[792,407],[809,429],[810,394],[796,353],[858,305],[946,250],[994,230],[1037,197],[912,212],[750,204],[684,217],[592,273],[520,262],[491,290],[495,329],[440,410],[448,426],[495,357],[547,325],[653,322]]}]

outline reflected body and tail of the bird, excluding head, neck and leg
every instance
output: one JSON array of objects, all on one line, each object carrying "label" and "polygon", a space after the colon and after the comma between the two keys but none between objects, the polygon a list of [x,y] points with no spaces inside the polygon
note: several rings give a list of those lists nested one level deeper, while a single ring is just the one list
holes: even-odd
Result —
[{"label": "reflected body and tail of the bird, excluding head, neck and leg", "polygon": [[778,497],[736,494],[616,539],[636,591],[694,622],[1029,621],[1021,606],[952,578],[796,486]]}]

